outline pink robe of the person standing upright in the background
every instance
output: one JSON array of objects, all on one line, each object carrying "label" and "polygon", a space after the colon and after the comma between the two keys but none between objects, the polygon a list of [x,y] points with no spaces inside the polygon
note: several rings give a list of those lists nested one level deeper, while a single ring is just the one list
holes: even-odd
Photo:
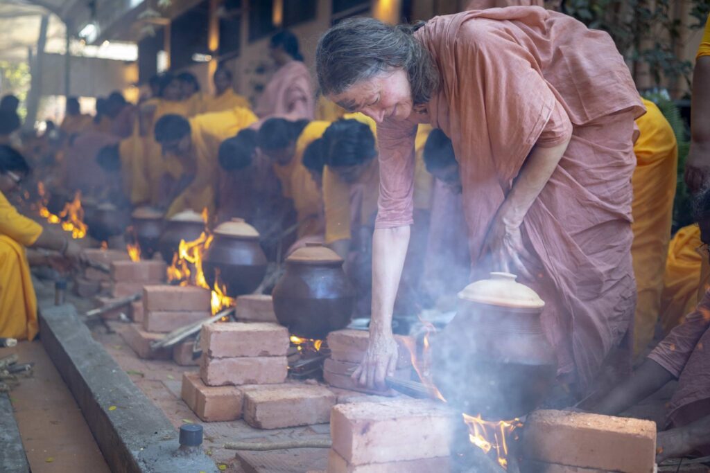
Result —
[{"label": "pink robe of the person standing upright in the background", "polygon": [[254,109],[259,118],[272,115],[312,120],[315,95],[308,68],[300,61],[290,61],[273,74]]}]

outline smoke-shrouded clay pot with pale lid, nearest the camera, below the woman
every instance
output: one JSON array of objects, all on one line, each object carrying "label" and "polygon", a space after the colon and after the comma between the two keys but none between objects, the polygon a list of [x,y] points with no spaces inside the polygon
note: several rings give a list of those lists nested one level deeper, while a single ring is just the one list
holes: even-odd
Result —
[{"label": "smoke-shrouded clay pot with pale lid, nearest the camera, below the woman", "polygon": [[545,303],[507,273],[459,293],[459,311],[432,338],[434,382],[449,404],[489,420],[524,416],[555,384],[557,360],[542,330]]}]

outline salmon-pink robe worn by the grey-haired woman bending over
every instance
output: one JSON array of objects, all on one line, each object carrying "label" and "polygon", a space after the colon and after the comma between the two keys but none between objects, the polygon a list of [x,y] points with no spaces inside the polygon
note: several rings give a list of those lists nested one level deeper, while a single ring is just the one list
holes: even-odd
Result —
[{"label": "salmon-pink robe worn by the grey-haired woman bending over", "polygon": [[[558,374],[589,388],[633,321],[633,121],[644,109],[607,33],[540,7],[439,16],[416,33],[441,76],[425,110],[378,126],[378,228],[413,223],[416,123],[452,138],[474,278],[488,227],[533,145],[571,141],[523,221]],[[629,359],[630,362],[630,359]],[[629,366],[630,368],[630,366]]]}]

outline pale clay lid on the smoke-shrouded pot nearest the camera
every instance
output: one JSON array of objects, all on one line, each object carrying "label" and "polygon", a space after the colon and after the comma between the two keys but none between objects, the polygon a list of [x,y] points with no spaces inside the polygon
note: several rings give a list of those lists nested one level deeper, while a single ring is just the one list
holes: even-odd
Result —
[{"label": "pale clay lid on the smoke-shrouded pot nearest the camera", "polygon": [[489,306],[540,309],[545,301],[525,284],[515,281],[515,274],[492,272],[491,279],[472,282],[459,292],[459,299]]}]

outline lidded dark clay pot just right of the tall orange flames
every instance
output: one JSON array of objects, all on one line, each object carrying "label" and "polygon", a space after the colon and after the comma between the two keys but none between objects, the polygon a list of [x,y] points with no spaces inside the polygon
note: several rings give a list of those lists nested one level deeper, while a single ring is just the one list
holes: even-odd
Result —
[{"label": "lidded dark clay pot just right of the tall orange flames", "polygon": [[219,285],[226,287],[229,297],[255,291],[266,275],[266,265],[258,232],[241,218],[234,218],[214,229],[214,240],[202,260],[209,287],[214,287],[219,275]]}]

